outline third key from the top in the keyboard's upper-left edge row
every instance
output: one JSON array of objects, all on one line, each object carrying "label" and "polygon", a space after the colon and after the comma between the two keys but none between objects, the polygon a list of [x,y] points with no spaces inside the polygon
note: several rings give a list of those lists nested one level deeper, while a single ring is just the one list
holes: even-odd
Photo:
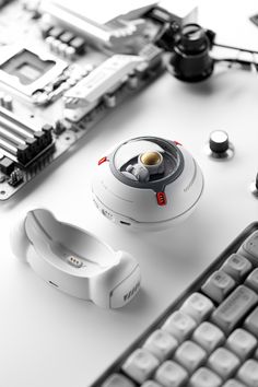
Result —
[{"label": "third key from the top in the keyboard's upper-left edge row", "polygon": [[211,300],[221,303],[235,288],[235,281],[223,270],[214,271],[201,286],[201,290]]}]

